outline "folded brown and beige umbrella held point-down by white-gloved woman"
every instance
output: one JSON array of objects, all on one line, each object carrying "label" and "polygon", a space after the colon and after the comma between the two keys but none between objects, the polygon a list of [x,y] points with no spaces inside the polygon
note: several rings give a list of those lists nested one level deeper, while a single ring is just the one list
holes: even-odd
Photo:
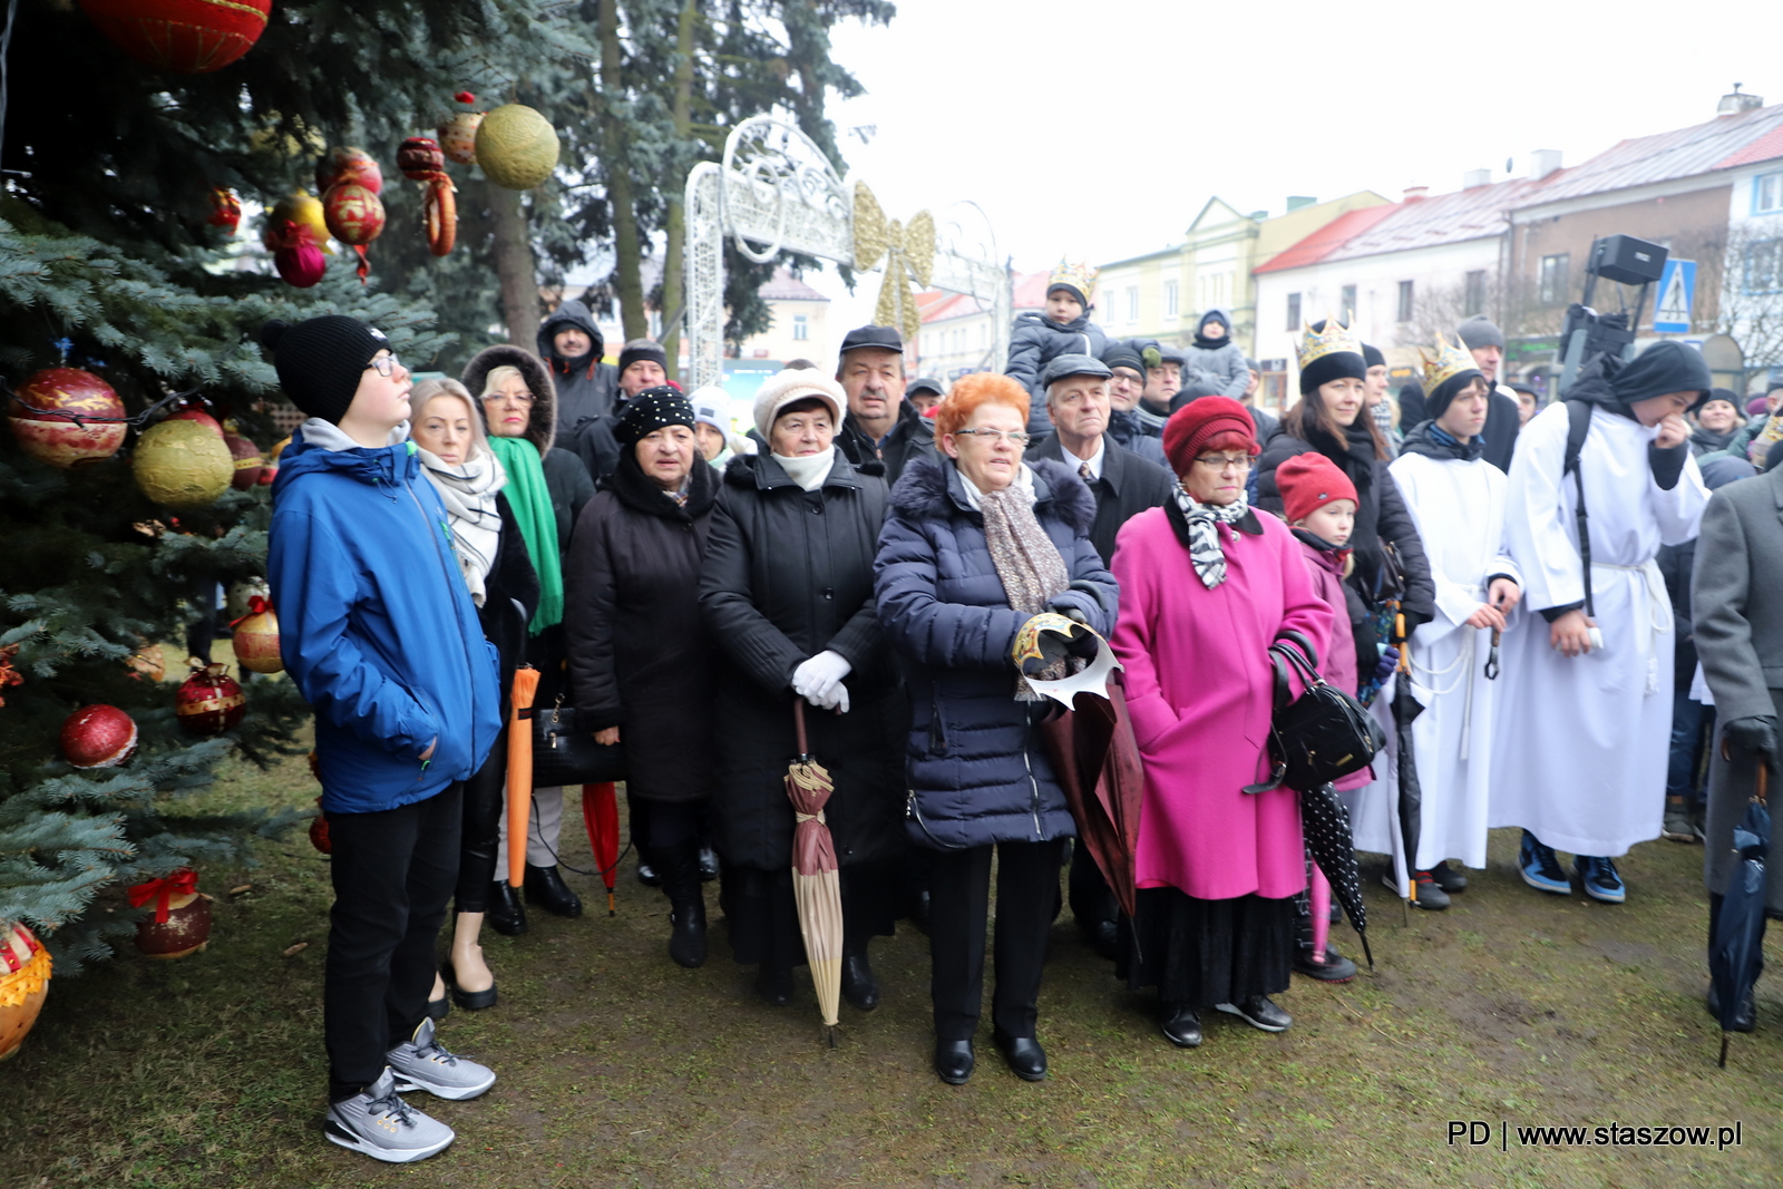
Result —
[{"label": "folded brown and beige umbrella held point-down by white-gloved woman", "polygon": [[836,1045],[836,1020],[842,1007],[842,875],[836,872],[836,843],[829,836],[824,806],[836,791],[824,765],[811,756],[804,733],[804,699],[792,704],[792,722],[799,734],[799,756],[786,768],[786,799],[792,800],[792,895],[799,906],[799,931],[804,955],[811,963],[817,1005]]}]

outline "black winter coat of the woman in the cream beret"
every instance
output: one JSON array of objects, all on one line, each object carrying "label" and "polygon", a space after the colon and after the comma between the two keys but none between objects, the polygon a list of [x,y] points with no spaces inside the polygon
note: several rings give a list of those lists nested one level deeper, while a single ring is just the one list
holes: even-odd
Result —
[{"label": "black winter coat of the woman in the cream beret", "polygon": [[733,458],[724,471],[699,601],[724,654],[711,827],[726,863],[768,872],[792,865],[792,674],[824,651],[852,667],[842,683],[849,713],[804,708],[811,754],[836,783],[826,809],[836,861],[877,863],[906,850],[909,709],[874,604],[884,517],[886,485],[840,453],[815,492],[768,455]]}]

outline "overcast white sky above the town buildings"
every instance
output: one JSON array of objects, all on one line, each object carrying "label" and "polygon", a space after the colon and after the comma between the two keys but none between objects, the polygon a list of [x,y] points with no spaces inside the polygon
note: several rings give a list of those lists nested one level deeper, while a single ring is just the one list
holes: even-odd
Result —
[{"label": "overcast white sky above the town buildings", "polygon": [[[890,27],[834,34],[867,86],[829,112],[849,168],[892,217],[975,200],[1023,271],[1179,242],[1211,194],[1280,214],[1289,194],[1446,193],[1467,169],[1521,176],[1537,148],[1578,164],[1710,119],[1737,80],[1783,102],[1774,0],[897,7]],[[867,144],[849,134],[863,125]],[[808,280],[847,294],[833,273]]]}]

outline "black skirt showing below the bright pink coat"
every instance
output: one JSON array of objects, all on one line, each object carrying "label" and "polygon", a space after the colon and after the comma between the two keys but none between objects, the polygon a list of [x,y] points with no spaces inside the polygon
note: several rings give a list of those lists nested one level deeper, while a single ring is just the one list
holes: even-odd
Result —
[{"label": "black skirt showing below the bright pink coat", "polygon": [[1177,888],[1141,888],[1122,918],[1116,973],[1163,1004],[1209,1007],[1286,991],[1294,957],[1294,900],[1259,895],[1196,900]]}]

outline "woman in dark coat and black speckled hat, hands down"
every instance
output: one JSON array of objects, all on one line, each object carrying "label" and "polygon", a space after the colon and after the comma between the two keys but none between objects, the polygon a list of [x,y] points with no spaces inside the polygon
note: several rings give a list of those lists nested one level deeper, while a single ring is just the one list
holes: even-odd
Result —
[{"label": "woman in dark coat and black speckled hat, hands down", "polygon": [[626,745],[631,838],[672,906],[669,955],[706,963],[699,827],[713,790],[713,651],[699,567],[719,480],[694,439],[694,406],[645,389],[613,424],[624,446],[571,538],[563,626],[576,711]]}]

